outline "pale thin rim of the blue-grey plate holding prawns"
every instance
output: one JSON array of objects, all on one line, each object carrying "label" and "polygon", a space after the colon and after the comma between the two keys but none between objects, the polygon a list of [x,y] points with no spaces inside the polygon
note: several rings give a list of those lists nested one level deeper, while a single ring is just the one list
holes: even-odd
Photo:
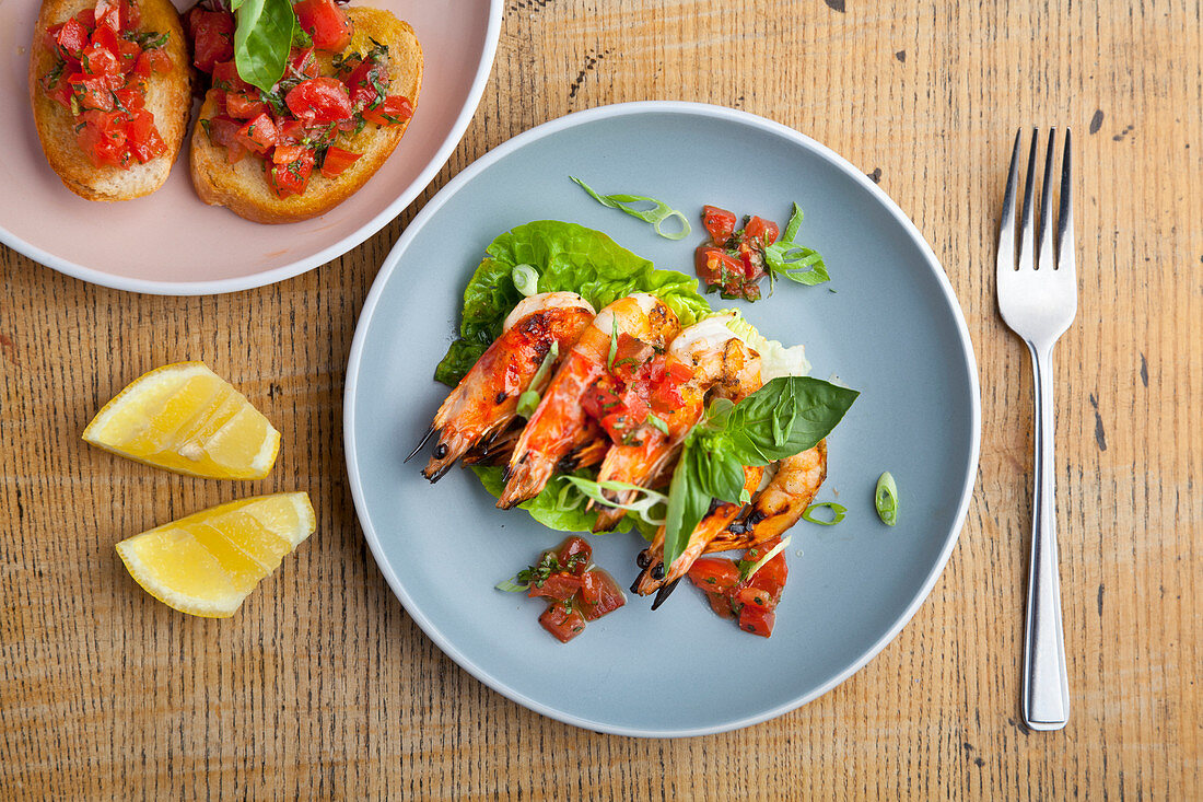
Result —
[{"label": "pale thin rim of the blue-grey plate holding prawns", "polygon": [[[547,704],[533,700],[525,694],[516,691],[515,689],[508,686],[504,682],[493,677],[482,666],[479,666],[467,655],[464,655],[455,644],[452,644],[444,635],[438,630],[437,626],[426,617],[426,614],[414,605],[409,594],[405,591],[404,585],[397,577],[396,572],[392,570],[391,564],[384,558],[383,547],[380,544],[379,536],[372,525],[372,519],[368,515],[366,501],[363,497],[363,485],[360,477],[358,467],[356,464],[356,443],[355,443],[355,400],[358,389],[358,377],[360,377],[360,362],[362,360],[363,349],[366,347],[367,330],[372,323],[372,317],[375,312],[377,305],[380,296],[384,294],[385,284],[387,284],[389,278],[396,271],[398,264],[401,263],[401,256],[409,248],[413,240],[417,237],[417,234],[425,228],[426,223],[433,218],[439,208],[442,208],[452,196],[455,196],[462,187],[470,183],[479,173],[484,172],[486,169],[491,167],[494,163],[504,159],[510,153],[518,151],[527,145],[531,145],[538,140],[541,140],[549,135],[559,132],[569,128],[576,128],[580,125],[587,125],[594,120],[608,119],[612,117],[623,117],[629,114],[645,114],[645,113],[675,113],[682,116],[701,116],[712,117],[718,119],[724,119],[728,122],[735,122],[740,124],[751,125],[753,128],[768,131],[770,134],[776,134],[787,140],[792,140],[796,145],[813,151],[817,155],[822,157],[832,166],[838,169],[841,172],[848,173],[853,181],[859,183],[861,187],[867,189],[873,197],[884,207],[890,216],[897,220],[907,236],[918,246],[919,252],[925,258],[928,266],[932,270],[936,276],[937,285],[948,306],[953,312],[953,323],[955,325],[958,336],[960,338],[960,344],[964,348],[965,355],[965,368],[968,375],[970,383],[970,397],[971,397],[971,409],[970,409],[970,430],[971,430],[971,442],[968,453],[968,465],[961,489],[961,497],[956,506],[956,513],[953,518],[953,526],[949,533],[946,536],[946,542],[941,548],[940,555],[932,566],[931,571],[923,580],[923,586],[919,592],[911,600],[907,607],[899,614],[897,620],[890,626],[890,629],[878,638],[872,645],[870,645],[860,656],[858,656],[845,671],[840,672],[832,677],[826,683],[812,689],[811,691],[802,694],[795,698],[789,700],[782,704],[778,704],[769,710],[764,710],[753,715],[748,715],[741,719],[734,719],[724,721],[722,724],[712,726],[700,726],[700,727],[680,727],[680,729],[646,729],[646,727],[629,727],[621,725],[612,725],[606,721],[598,721],[587,719],[579,715],[573,715],[563,710],[555,709]],[[355,515],[363,530],[363,537],[368,543],[368,548],[372,550],[372,558],[375,560],[377,567],[384,576],[385,582],[389,583],[389,588],[392,590],[393,595],[401,602],[405,613],[417,624],[422,632],[428,637],[434,644],[452,661],[456,662],[461,668],[467,671],[469,674],[475,677],[479,682],[484,683],[492,690],[497,691],[502,696],[526,707],[527,709],[534,710],[541,715],[562,721],[564,724],[570,724],[573,726],[582,727],[586,730],[592,730],[594,732],[603,732],[608,735],[628,736],[638,738],[681,738],[681,737],[697,737],[715,735],[719,732],[730,732],[733,730],[740,730],[755,724],[761,724],[771,719],[778,718],[795,710],[804,704],[807,704],[819,696],[823,696],[831,689],[846,682],[858,671],[864,668],[873,657],[876,657],[887,645],[889,645],[902,631],[902,629],[911,621],[914,614],[918,612],[919,607],[928,600],[931,591],[935,589],[936,582],[943,573],[948,565],[948,560],[952,558],[953,549],[960,539],[961,530],[965,527],[965,519],[968,514],[970,501],[973,496],[973,488],[977,480],[977,468],[980,459],[980,446],[982,446],[982,390],[980,382],[978,378],[978,366],[977,355],[973,350],[973,341],[970,337],[968,325],[965,322],[965,313],[961,309],[960,301],[956,299],[956,294],[953,291],[952,282],[948,279],[948,275],[936,256],[935,250],[928,243],[926,238],[914,225],[909,217],[902,212],[901,207],[894,200],[885,194],[885,191],[873,183],[864,172],[858,170],[851,161],[845,159],[842,155],[832,151],[831,148],[822,145],[820,142],[806,136],[805,134],[792,129],[782,123],[753,114],[751,112],[728,108],[725,106],[715,106],[711,104],[692,102],[692,101],[665,101],[665,100],[645,100],[634,102],[621,102],[611,104],[606,106],[597,106],[594,108],[587,108],[583,111],[571,112],[563,117],[549,120],[535,128],[532,128],[522,134],[506,140],[496,148],[486,152],[482,157],[473,161],[470,165],[464,167],[457,176],[455,176],[450,182],[446,183],[427,204],[422,207],[421,212],[414,218],[414,220],[405,228],[401,237],[397,240],[396,244],[385,256],[384,263],[380,265],[380,270],[377,273],[375,279],[372,283],[372,289],[368,291],[367,297],[363,301],[363,307],[360,312],[358,320],[355,324],[355,336],[351,341],[351,349],[348,356],[346,365],[346,384],[343,391],[343,450],[346,460],[346,473],[350,480],[351,497],[355,503]]]}]

